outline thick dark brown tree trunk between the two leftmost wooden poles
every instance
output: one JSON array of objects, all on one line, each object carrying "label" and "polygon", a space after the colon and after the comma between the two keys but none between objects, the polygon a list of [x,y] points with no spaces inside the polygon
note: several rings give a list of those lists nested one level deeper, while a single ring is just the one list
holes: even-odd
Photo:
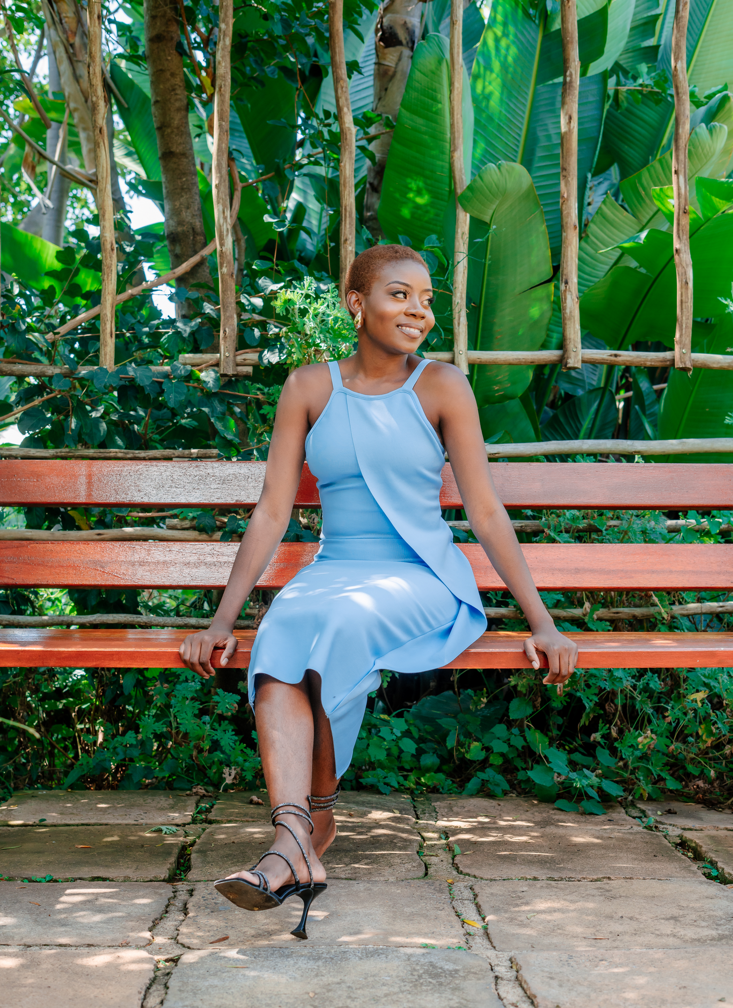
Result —
[{"label": "thick dark brown tree trunk between the two leftmost wooden poles", "polygon": [[[184,60],[175,48],[180,37],[177,4],[174,0],[145,0],[144,17],[152,120],[163,183],[165,241],[174,269],[207,243],[189,129]],[[194,266],[182,282],[187,287],[211,283],[206,260]]]}]

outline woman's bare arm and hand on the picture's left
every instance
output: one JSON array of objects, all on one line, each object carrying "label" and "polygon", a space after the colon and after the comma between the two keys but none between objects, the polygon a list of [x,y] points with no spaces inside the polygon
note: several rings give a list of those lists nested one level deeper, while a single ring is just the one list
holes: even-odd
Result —
[{"label": "woman's bare arm and hand on the picture's left", "polygon": [[234,653],[234,624],[287,528],[306,459],[309,402],[314,390],[314,375],[309,371],[303,368],[293,372],[282,389],[262,495],[242,537],[212,624],[208,630],[190,634],[180,645],[178,653],[184,662],[205,677],[214,674],[211,654],[215,647],[224,648],[223,665]]}]

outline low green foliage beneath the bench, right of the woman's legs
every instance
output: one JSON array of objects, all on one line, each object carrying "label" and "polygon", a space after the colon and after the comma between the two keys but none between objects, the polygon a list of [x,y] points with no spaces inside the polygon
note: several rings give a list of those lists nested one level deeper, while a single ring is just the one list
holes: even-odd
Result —
[{"label": "low green foliage beneath the bench, right of the woman's legs", "polygon": [[509,681],[508,705],[494,685],[426,697],[391,717],[367,712],[347,783],[512,790],[593,814],[623,797],[727,793],[732,669],[587,669],[562,697],[531,672]]}]

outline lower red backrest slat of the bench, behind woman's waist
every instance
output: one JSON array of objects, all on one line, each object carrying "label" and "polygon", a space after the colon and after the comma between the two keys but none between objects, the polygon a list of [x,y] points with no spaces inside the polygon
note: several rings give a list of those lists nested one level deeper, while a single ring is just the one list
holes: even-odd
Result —
[{"label": "lower red backrest slat of the bench, behind woman's waist", "polygon": [[[481,546],[459,546],[481,591],[505,588]],[[537,588],[733,589],[733,544],[526,543]],[[224,588],[236,542],[0,542],[0,586]],[[316,542],[283,542],[257,588],[276,589],[310,563]]]}]

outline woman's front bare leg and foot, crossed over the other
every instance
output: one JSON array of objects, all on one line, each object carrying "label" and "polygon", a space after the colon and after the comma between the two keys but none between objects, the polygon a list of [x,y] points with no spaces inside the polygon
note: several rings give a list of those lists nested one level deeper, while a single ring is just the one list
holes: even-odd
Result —
[{"label": "woman's front bare leg and foot, crossed over the other", "polygon": [[[300,682],[291,685],[269,675],[259,675],[255,722],[271,806],[274,808],[284,802],[294,801],[308,809],[314,752],[314,713],[308,677],[303,676]],[[297,815],[287,814],[286,808],[281,809],[277,817],[287,823],[297,835],[311,862],[314,881],[325,882],[326,872],[312,843],[308,822]],[[294,865],[300,882],[308,883],[308,865],[294,838],[284,827],[275,828],[271,848],[286,855]],[[292,881],[287,862],[282,858],[264,858],[258,869],[267,876],[272,889],[278,889]],[[258,882],[257,877],[247,871],[235,872],[228,877],[244,878],[255,884]]]}]

